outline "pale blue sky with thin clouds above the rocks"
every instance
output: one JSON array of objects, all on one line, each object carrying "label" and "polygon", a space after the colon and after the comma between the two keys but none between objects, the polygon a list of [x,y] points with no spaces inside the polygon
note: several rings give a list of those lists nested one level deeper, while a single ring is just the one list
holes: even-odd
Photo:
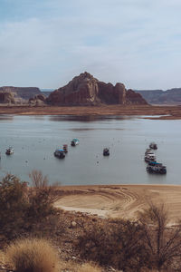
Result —
[{"label": "pale blue sky with thin clouds above the rocks", "polygon": [[0,86],[181,87],[181,0],[0,0]]}]

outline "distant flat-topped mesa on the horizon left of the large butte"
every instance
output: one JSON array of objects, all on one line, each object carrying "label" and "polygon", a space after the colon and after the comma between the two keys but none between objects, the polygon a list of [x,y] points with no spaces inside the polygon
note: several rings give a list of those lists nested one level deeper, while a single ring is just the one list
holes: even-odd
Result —
[{"label": "distant flat-topped mesa on the horizon left of the large butte", "polygon": [[0,93],[1,92],[14,93],[15,100],[18,100],[18,99],[28,100],[31,97],[34,97],[36,94],[41,94],[40,89],[36,87],[4,86],[4,87],[0,87]]}]

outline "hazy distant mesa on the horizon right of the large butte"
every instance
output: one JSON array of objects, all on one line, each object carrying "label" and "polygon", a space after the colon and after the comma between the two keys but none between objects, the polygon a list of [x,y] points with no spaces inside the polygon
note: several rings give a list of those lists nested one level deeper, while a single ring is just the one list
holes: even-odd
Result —
[{"label": "hazy distant mesa on the horizon right of the large butte", "polygon": [[174,88],[167,91],[163,90],[137,90],[148,103],[151,104],[180,104],[181,88]]}]

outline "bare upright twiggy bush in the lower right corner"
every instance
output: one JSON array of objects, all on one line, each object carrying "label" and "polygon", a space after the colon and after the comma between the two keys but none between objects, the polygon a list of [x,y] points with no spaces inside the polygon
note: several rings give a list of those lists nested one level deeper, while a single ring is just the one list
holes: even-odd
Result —
[{"label": "bare upright twiggy bush in the lower right corner", "polygon": [[149,267],[157,271],[180,271],[181,223],[167,227],[168,211],[163,203],[148,203],[139,213],[144,232],[142,243],[148,251]]}]

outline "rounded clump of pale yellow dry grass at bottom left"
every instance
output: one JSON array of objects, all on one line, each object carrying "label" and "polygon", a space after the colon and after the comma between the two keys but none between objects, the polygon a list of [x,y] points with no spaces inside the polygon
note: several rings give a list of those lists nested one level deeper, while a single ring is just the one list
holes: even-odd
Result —
[{"label": "rounded clump of pale yellow dry grass at bottom left", "polygon": [[6,249],[6,257],[15,272],[57,272],[59,257],[45,239],[22,239]]}]

